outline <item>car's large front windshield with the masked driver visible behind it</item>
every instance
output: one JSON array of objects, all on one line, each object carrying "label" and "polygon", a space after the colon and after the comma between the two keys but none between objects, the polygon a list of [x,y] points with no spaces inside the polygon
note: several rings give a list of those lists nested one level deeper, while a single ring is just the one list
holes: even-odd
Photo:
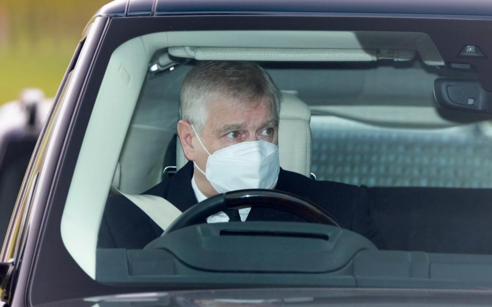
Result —
[{"label": "car's large front windshield with the masked driver visible behind it", "polygon": [[489,287],[488,93],[425,33],[131,39],[61,237],[116,286]]}]

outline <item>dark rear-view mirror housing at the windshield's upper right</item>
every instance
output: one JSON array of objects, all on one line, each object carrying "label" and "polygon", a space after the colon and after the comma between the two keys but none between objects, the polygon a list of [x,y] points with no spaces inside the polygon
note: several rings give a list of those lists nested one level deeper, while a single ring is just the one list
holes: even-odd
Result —
[{"label": "dark rear-view mirror housing at the windshield's upper right", "polygon": [[478,80],[436,79],[434,96],[445,109],[492,115],[492,92],[485,91]]}]

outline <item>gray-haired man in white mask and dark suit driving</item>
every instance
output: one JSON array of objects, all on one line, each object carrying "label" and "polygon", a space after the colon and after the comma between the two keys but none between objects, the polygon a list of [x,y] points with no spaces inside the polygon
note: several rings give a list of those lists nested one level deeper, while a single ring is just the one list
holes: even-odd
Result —
[{"label": "gray-haired man in white mask and dark suit driving", "polygon": [[[181,212],[218,193],[263,188],[291,192],[322,206],[346,229],[385,244],[368,213],[368,196],[357,186],[315,181],[279,167],[280,92],[252,62],[209,61],[183,81],[177,131],[189,162],[144,194],[167,199]],[[239,216],[238,214],[239,213]],[[207,222],[303,221],[263,208],[219,212]],[[205,222],[205,221],[204,221]],[[110,198],[99,247],[142,248],[162,234],[149,216],[123,196]]]}]

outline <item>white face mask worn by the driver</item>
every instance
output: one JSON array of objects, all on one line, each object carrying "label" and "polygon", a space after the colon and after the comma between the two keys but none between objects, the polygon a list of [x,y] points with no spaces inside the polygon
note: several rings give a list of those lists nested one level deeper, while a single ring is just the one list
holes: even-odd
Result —
[{"label": "white face mask worn by the driver", "polygon": [[209,157],[202,172],[219,193],[242,189],[271,189],[280,171],[278,146],[265,141],[241,142],[215,151],[212,155],[193,131]]}]

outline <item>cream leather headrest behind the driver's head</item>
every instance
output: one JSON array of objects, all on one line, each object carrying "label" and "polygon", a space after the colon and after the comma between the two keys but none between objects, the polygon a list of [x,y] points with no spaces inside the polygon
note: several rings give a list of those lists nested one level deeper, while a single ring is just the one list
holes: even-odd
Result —
[{"label": "cream leather headrest behind the driver's head", "polygon": [[[278,150],[280,166],[310,177],[311,173],[311,111],[297,96],[282,93]],[[188,162],[179,138],[176,142],[176,168]]]}]

